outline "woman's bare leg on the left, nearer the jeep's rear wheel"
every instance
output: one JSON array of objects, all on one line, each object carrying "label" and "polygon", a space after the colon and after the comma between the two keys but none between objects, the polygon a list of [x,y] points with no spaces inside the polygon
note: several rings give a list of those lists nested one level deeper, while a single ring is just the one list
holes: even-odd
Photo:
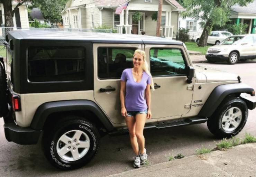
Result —
[{"label": "woman's bare leg on the left, nearer the jeep's rear wheel", "polygon": [[127,124],[130,134],[131,147],[134,150],[135,154],[139,155],[139,146],[135,134],[135,117],[125,117],[125,122]]}]

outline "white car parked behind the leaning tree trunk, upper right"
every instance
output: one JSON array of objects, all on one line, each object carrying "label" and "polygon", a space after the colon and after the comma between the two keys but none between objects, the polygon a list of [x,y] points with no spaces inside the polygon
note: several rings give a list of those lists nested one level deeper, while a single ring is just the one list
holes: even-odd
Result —
[{"label": "white car parked behind the leaning tree trunk, upper right", "polygon": [[[227,37],[233,36],[231,32],[228,31],[212,31],[208,36],[207,44],[219,45]],[[199,44],[199,38],[196,39],[196,44]]]}]

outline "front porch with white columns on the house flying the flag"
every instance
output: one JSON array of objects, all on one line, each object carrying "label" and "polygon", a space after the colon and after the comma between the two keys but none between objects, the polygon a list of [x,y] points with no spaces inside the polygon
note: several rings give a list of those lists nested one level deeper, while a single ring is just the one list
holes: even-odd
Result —
[{"label": "front porch with white columns on the house flying the flag", "polygon": [[[156,11],[139,11],[141,13],[141,19],[134,21],[132,16],[138,12],[136,10],[123,10],[120,14],[120,23],[117,25],[119,34],[138,34],[138,35],[156,35],[155,20],[152,20],[152,15]],[[161,20],[161,36],[165,38],[173,38],[174,25],[171,25],[171,11],[162,12]],[[125,30],[123,30],[125,28]]]}]

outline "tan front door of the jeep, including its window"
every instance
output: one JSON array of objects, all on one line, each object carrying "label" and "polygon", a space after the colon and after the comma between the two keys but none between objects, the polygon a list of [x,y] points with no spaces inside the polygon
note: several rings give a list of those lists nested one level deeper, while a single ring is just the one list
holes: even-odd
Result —
[{"label": "tan front door of the jeep, including its window", "polygon": [[190,111],[193,82],[186,82],[183,46],[145,45],[155,91],[151,94],[152,117],[157,121],[180,119]]}]

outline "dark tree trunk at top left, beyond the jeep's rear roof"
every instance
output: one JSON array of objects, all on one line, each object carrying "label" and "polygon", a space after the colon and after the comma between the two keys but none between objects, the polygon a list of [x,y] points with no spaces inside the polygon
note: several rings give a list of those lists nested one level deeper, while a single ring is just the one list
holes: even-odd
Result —
[{"label": "dark tree trunk at top left, beyond the jeep's rear roof", "polygon": [[13,12],[12,12],[12,4],[11,0],[2,1],[3,9],[4,9],[4,26],[5,27],[13,27]]}]

